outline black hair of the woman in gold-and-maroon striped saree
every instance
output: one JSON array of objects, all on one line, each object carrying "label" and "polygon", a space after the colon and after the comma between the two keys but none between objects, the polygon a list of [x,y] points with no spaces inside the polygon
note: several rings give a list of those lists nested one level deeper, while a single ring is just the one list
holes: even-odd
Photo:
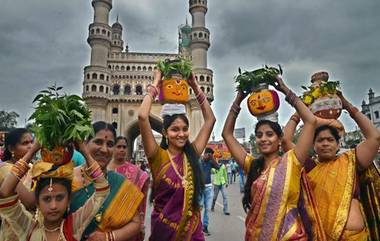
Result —
[{"label": "black hair of the woman in gold-and-maroon striped saree", "polygon": [[[260,126],[262,125],[268,125],[274,133],[278,137],[282,136],[282,130],[281,126],[277,122],[273,122],[270,120],[260,120],[257,122],[256,127],[255,127],[255,134],[257,133],[257,130],[259,129]],[[248,212],[248,210],[251,208],[251,188],[253,182],[261,175],[261,172],[264,171],[264,157],[260,156],[256,160],[252,162],[252,165],[249,169],[248,175],[247,175],[247,182],[245,183],[244,186],[244,196],[242,199],[243,203],[243,208],[245,212]]]}]

